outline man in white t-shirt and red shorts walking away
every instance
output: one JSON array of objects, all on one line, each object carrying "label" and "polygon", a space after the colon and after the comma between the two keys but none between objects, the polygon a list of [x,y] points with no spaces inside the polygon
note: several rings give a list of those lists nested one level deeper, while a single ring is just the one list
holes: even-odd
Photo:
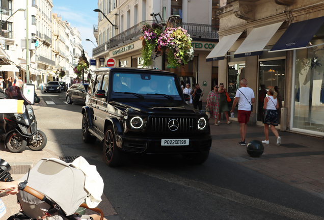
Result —
[{"label": "man in white t-shirt and red shorts walking away", "polygon": [[255,102],[254,92],[251,88],[247,87],[248,81],[242,78],[240,81],[241,88],[236,91],[235,99],[233,101],[232,111],[238,102],[237,108],[237,121],[239,123],[239,132],[241,134],[241,141],[238,145],[246,145],[245,136],[247,135],[248,122],[251,115],[251,105]]}]

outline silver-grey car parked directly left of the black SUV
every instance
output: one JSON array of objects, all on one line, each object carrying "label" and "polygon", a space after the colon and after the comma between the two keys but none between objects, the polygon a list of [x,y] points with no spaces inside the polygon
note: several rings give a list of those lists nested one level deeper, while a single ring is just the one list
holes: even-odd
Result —
[{"label": "silver-grey car parked directly left of the black SUV", "polygon": [[86,96],[88,94],[88,84],[73,84],[66,91],[66,102],[68,104],[80,103],[85,105]]}]

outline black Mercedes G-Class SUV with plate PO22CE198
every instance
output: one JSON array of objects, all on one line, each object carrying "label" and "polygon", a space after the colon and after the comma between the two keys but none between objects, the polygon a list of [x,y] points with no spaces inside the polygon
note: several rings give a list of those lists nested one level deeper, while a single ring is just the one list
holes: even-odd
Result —
[{"label": "black Mercedes G-Class SUV with plate PO22CE198", "polygon": [[92,71],[82,137],[103,142],[105,162],[121,166],[126,153],[182,154],[188,162],[206,161],[211,147],[205,112],[185,103],[172,72],[102,67]]}]

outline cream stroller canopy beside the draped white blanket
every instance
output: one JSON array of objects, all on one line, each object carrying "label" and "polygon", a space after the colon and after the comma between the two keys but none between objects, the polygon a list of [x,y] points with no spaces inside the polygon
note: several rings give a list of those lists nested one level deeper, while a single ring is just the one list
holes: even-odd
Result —
[{"label": "cream stroller canopy beside the draped white blanket", "polygon": [[[20,180],[26,180],[27,175],[24,175]],[[55,158],[43,158],[38,161],[30,171],[27,185],[57,203],[66,215],[73,214],[88,195],[84,188],[85,174],[81,170],[71,167],[69,163]],[[50,207],[45,202],[22,190],[17,197],[23,201],[24,205],[37,205],[43,211],[47,211]],[[25,210],[32,210],[29,207],[22,206],[22,208],[24,212]],[[25,214],[34,216],[33,213]]]}]

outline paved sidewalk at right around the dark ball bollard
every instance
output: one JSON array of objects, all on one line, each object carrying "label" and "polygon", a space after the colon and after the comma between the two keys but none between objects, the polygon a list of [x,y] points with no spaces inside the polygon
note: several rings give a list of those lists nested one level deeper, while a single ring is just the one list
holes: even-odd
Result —
[{"label": "paved sidewalk at right around the dark ball bollard", "polygon": [[[213,121],[213,119],[210,119]],[[239,123],[210,125],[211,152],[283,183],[324,199],[324,139],[321,137],[279,131],[281,145],[269,129],[270,144],[263,144],[259,158],[250,157],[246,146],[240,146]],[[265,140],[261,126],[249,126],[246,143]]]}]

